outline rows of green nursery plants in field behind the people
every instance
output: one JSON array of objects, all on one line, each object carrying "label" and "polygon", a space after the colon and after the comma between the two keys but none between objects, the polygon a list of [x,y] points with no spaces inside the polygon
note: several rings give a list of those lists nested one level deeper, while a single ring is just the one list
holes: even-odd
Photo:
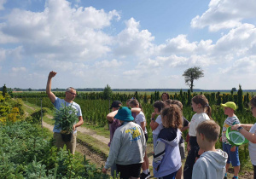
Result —
[{"label": "rows of green nursery plants in field behind the people", "polygon": [[[99,93],[98,93],[99,94]],[[207,96],[207,99],[209,101],[210,106],[212,107],[212,118],[215,120],[221,127],[224,124],[225,118],[227,116],[224,115],[224,108],[220,107],[220,103],[224,103],[226,101],[235,101],[237,106],[240,107],[239,110],[236,111],[237,117],[240,119],[241,123],[245,124],[254,124],[255,118],[253,118],[253,115],[248,107],[248,102],[252,98],[251,95],[248,93],[246,95],[238,94],[234,95],[232,92],[230,93],[200,93]],[[183,116],[187,118],[189,121],[192,118],[192,116],[195,114],[192,111],[192,108],[190,106],[191,99],[195,95],[200,94],[190,94],[190,92],[183,92],[180,91],[180,93],[174,93],[170,95],[171,99],[176,99],[179,101],[182,101],[183,103]],[[63,93],[61,97],[63,97],[65,94]],[[90,93],[87,93],[87,96],[89,96]],[[152,142],[152,130],[149,127],[150,123],[150,117],[151,113],[153,113],[153,103],[156,100],[160,99],[160,93],[154,92],[151,95],[142,95],[142,94],[130,94],[130,95],[124,95],[124,94],[115,94],[112,95],[111,100],[102,100],[97,99],[96,96],[93,94],[90,97],[84,97],[85,95],[78,95],[75,99],[75,102],[77,102],[83,113],[84,121],[87,123],[95,124],[98,126],[106,126],[108,125],[106,116],[109,113],[109,106],[113,100],[119,100],[122,101],[125,106],[125,101],[128,97],[136,96],[137,100],[142,103],[143,106],[143,112],[145,113],[145,117],[147,119],[147,130],[148,130],[148,142]],[[94,98],[95,99],[90,99]],[[116,99],[113,99],[113,97],[116,97]],[[87,99],[89,98],[89,99]],[[37,104],[39,107],[41,105],[42,100],[42,106],[43,107],[49,107],[53,108],[53,105],[49,101],[48,97],[23,97],[22,100],[31,102],[33,104]],[[240,104],[239,104],[240,102]],[[183,132],[183,136],[185,137],[188,131]],[[217,147],[221,148],[221,143],[217,143]],[[247,161],[248,160],[248,151],[247,146],[240,147],[240,157],[241,161]],[[241,167],[243,166],[243,163],[241,162]]]}]

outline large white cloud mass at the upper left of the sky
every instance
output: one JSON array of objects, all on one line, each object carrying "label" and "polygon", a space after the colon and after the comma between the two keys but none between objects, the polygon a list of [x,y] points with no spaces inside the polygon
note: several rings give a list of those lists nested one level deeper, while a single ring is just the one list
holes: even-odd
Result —
[{"label": "large white cloud mass at the upper left of the sky", "polygon": [[19,39],[26,55],[68,61],[89,61],[105,55],[112,38],[102,32],[111,20],[119,20],[116,10],[105,12],[93,7],[74,9],[64,0],[49,0],[43,12],[14,9],[0,24],[4,39]]}]

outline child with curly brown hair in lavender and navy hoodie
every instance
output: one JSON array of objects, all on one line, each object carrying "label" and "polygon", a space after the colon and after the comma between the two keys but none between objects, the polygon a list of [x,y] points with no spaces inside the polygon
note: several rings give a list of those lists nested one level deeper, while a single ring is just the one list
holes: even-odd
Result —
[{"label": "child with curly brown hair in lavender and navy hoodie", "polygon": [[178,143],[182,135],[179,129],[183,127],[183,115],[179,107],[172,104],[162,110],[161,117],[164,129],[160,130],[154,151],[154,177],[175,179],[182,165]]}]

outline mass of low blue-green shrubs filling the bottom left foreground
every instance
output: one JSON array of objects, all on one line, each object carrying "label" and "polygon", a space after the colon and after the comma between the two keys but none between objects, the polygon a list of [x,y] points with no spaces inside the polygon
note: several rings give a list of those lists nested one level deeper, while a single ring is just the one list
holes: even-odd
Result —
[{"label": "mass of low blue-green shrubs filling the bottom left foreground", "polygon": [[109,178],[89,160],[58,150],[26,121],[0,124],[1,178]]}]

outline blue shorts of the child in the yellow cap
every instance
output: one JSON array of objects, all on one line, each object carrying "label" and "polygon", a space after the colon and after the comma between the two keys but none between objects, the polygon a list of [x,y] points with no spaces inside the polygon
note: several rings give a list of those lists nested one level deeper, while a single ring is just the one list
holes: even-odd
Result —
[{"label": "blue shorts of the child in the yellow cap", "polygon": [[222,147],[224,152],[228,153],[228,160],[227,160],[227,164],[232,164],[232,166],[239,166],[240,165],[240,161],[239,161],[239,154],[238,154],[238,147],[236,147],[236,151],[235,152],[231,152],[231,145],[230,144],[226,144],[226,143],[222,143]]}]

